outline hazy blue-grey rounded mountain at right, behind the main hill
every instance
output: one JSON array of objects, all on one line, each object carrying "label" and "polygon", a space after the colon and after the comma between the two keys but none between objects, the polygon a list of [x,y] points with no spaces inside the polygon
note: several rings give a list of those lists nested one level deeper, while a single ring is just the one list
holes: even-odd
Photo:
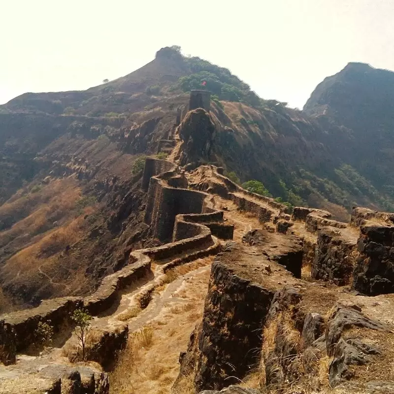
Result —
[{"label": "hazy blue-grey rounded mountain at right, behind the main hill", "polygon": [[341,127],[328,144],[379,193],[393,195],[394,72],[349,63],[316,87],[304,113]]}]

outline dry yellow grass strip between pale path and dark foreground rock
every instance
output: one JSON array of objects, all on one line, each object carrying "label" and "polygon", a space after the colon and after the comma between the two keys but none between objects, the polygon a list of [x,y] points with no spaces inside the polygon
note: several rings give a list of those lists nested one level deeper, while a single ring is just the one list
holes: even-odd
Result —
[{"label": "dry yellow grass strip between pale path and dark foreground rock", "polygon": [[[201,319],[208,278],[209,270],[196,274],[183,284],[181,291],[176,292],[188,299],[188,303],[179,306],[169,304],[150,323],[151,331],[130,336],[127,349],[110,375],[110,393],[170,392],[179,373],[179,353],[186,349],[190,333]],[[185,386],[182,394],[192,393],[191,383],[187,383],[190,391]]]}]

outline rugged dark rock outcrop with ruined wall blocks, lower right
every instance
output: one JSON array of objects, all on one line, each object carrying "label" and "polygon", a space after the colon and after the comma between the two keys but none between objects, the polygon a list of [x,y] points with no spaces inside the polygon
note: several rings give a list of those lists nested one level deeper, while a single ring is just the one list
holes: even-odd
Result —
[{"label": "rugged dark rock outcrop with ruined wall blocks, lower right", "polygon": [[[256,388],[256,380],[262,392],[392,390],[385,363],[392,357],[386,308],[393,297],[384,294],[394,291],[387,255],[393,215],[359,208],[347,225],[327,214],[295,209],[293,235],[254,230],[217,256],[174,392],[191,380],[203,393],[253,393],[226,387],[241,381]],[[313,261],[303,256],[308,248],[315,249]]]}]

